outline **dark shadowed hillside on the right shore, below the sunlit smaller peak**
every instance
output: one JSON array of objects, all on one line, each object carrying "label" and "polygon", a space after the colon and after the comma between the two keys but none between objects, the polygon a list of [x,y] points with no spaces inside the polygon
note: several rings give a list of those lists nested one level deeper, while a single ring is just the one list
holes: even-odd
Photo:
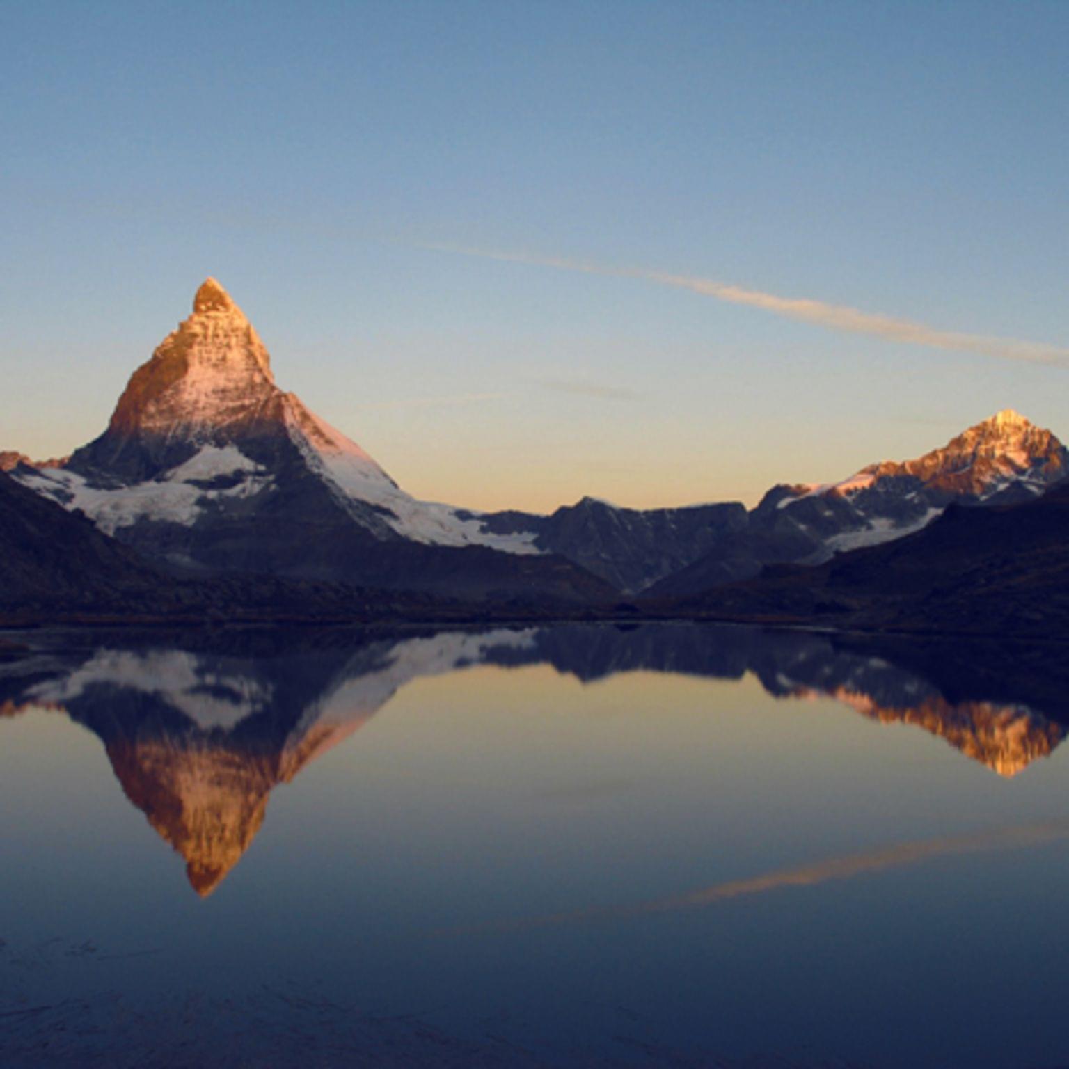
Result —
[{"label": "dark shadowed hillside on the right shore, below the sunlit smaller peak", "polygon": [[662,608],[719,619],[1064,638],[1067,531],[1069,484],[1016,505],[951,503],[924,530],[897,541],[816,568],[769,569]]}]

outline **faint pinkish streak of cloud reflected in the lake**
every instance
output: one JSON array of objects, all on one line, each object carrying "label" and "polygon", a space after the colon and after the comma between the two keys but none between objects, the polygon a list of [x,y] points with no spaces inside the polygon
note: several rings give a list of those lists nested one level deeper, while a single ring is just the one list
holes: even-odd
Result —
[{"label": "faint pinkish streak of cloud reflected in the lake", "polygon": [[949,836],[920,842],[902,842],[869,853],[848,854],[843,857],[828,857],[823,861],[799,865],[793,868],[777,869],[746,880],[730,880],[714,883],[696,890],[685,892],[667,898],[652,899],[635,905],[594,907],[574,910],[569,913],[553,913],[543,916],[521,917],[485,925],[474,925],[444,932],[455,934],[462,931],[522,931],[529,928],[553,927],[578,924],[588,920],[618,920],[630,917],[648,916],[656,913],[671,913],[678,910],[694,910],[716,905],[733,898],[761,895],[784,887],[811,887],[832,880],[849,880],[852,877],[885,869],[916,865],[934,857],[976,854],[992,850],[1012,850],[1023,847],[1042,846],[1069,838],[1069,822],[1050,821],[1040,824],[1024,824],[1018,827],[981,832],[976,835]]}]

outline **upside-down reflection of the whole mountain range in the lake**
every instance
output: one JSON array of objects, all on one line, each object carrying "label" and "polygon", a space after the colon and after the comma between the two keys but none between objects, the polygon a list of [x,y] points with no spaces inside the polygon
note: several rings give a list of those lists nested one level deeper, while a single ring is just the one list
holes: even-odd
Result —
[{"label": "upside-down reflection of the whole mountain range in the lake", "polygon": [[[277,784],[347,738],[421,677],[548,664],[584,682],[646,670],[753,673],[785,700],[831,697],[881,724],[946,740],[1003,776],[1062,742],[1067,719],[1021,659],[982,648],[850,646],[807,633],[693,624],[561,625],[374,636],[198,633],[168,640],[52,637],[0,662],[0,715],[62,711],[104,743],[126,796],[208,895],[249,848]],[[81,641],[87,641],[82,638]]]}]

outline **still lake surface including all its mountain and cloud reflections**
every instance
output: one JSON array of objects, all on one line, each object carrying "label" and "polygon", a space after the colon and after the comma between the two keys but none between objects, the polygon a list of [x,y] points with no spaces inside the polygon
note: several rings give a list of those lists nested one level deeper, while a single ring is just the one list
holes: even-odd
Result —
[{"label": "still lake surface including all its mountain and cloud reflections", "polygon": [[5,1066],[1069,1060],[1059,648],[9,638]]}]

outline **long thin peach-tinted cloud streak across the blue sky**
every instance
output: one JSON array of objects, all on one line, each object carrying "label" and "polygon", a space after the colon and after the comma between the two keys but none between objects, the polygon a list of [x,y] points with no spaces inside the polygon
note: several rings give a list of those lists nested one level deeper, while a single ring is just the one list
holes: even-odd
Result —
[{"label": "long thin peach-tinted cloud streak across the blue sky", "polygon": [[486,260],[508,263],[533,264],[554,267],[558,270],[582,272],[587,275],[604,275],[615,278],[635,278],[657,285],[669,285],[678,290],[690,290],[703,297],[713,297],[730,305],[748,305],[790,320],[811,323],[831,330],[868,335],[887,341],[905,342],[911,345],[927,345],[931,348],[950,350],[959,353],[975,353],[1004,360],[1026,360],[1032,363],[1051,363],[1069,367],[1069,348],[1045,342],[1023,341],[1017,338],[998,338],[988,335],[966,334],[957,330],[940,330],[924,323],[898,319],[892,315],[864,312],[847,305],[833,305],[808,297],[783,297],[760,290],[749,290],[741,285],[718,282],[710,278],[688,275],[672,275],[666,272],[645,270],[633,267],[611,267],[605,264],[582,260],[567,260],[557,257],[530,255],[524,252],[500,252],[491,249],[476,249],[454,245],[422,245],[422,248],[443,252],[458,252]]}]

